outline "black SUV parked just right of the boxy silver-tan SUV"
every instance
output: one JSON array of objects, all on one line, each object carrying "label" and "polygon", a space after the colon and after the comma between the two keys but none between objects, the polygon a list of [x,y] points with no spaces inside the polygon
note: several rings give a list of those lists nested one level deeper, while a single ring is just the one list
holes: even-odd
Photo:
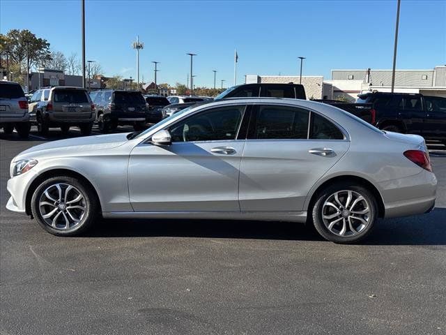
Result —
[{"label": "black SUV parked just right of the boxy silver-tan SUV", "polygon": [[107,89],[91,92],[90,97],[95,104],[98,128],[102,133],[126,124],[132,125],[135,131],[146,128],[148,107],[139,91]]}]

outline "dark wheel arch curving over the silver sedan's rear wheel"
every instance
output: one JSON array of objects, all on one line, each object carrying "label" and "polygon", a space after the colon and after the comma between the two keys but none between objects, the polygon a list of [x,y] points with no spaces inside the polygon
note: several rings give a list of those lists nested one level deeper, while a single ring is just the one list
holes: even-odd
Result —
[{"label": "dark wheel arch curving over the silver sedan's rear wheel", "polygon": [[321,185],[319,185],[316,190],[312,193],[311,197],[309,198],[309,202],[307,203],[307,210],[310,211],[313,208],[314,203],[317,200],[318,194],[321,193],[321,191],[329,186],[330,184],[334,184],[337,182],[354,182],[355,184],[364,186],[367,188],[376,198],[376,202],[378,203],[378,217],[383,218],[385,215],[385,206],[384,206],[384,200],[383,196],[381,195],[380,191],[378,191],[378,188],[374,184],[372,184],[369,180],[365,179],[364,177],[355,176],[353,174],[348,175],[340,175],[331,177],[329,179],[326,179],[323,181]]}]

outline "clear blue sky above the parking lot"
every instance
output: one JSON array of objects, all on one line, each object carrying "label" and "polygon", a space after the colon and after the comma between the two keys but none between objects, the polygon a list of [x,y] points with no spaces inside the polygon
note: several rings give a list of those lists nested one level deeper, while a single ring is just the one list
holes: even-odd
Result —
[{"label": "clear blue sky above the parking lot", "polygon": [[[385,1],[123,1],[86,0],[86,57],[105,75],[136,77],[137,34],[144,42],[140,76],[186,82],[194,57],[194,84],[238,82],[245,74],[304,75],[330,79],[335,68],[392,68],[397,0]],[[0,2],[0,31],[29,29],[52,50],[81,54],[80,1]],[[36,15],[31,15],[36,13]],[[446,64],[446,1],[401,1],[397,68]],[[218,84],[217,84],[218,85]],[[226,85],[225,85],[226,86]]]}]

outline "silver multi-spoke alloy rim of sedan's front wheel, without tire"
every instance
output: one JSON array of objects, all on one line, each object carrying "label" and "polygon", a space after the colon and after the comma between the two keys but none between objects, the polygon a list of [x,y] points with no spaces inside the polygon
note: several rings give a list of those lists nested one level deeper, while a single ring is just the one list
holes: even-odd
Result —
[{"label": "silver multi-spoke alloy rim of sedan's front wheel, without tire", "polygon": [[56,230],[70,230],[82,222],[87,204],[84,194],[78,188],[57,183],[43,191],[38,208],[47,225]]}]

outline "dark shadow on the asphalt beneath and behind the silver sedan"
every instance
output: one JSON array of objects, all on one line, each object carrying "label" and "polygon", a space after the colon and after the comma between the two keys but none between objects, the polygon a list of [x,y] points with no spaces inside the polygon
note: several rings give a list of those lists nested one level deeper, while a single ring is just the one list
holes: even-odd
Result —
[{"label": "dark shadow on the asphalt beneath and behind the silver sedan", "polygon": [[[446,208],[378,221],[362,245],[446,245]],[[226,220],[103,219],[84,237],[202,237],[324,241],[310,225]]]}]

